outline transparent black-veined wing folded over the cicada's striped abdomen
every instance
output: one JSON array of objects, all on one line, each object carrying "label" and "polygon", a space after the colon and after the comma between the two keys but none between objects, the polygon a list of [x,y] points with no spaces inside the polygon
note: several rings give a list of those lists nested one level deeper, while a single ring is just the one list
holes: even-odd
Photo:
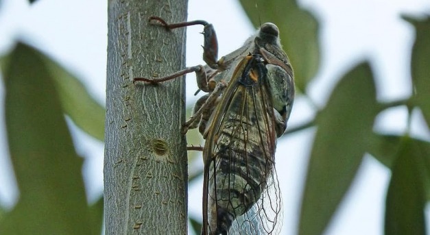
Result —
[{"label": "transparent black-veined wing folded over the cicada's striped abdomen", "polygon": [[280,227],[276,123],[264,69],[254,55],[243,59],[212,114],[202,234],[276,234]]}]

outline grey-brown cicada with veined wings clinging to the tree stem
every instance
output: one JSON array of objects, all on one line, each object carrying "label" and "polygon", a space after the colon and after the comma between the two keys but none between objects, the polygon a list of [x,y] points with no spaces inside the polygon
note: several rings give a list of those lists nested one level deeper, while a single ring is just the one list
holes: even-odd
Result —
[{"label": "grey-brown cicada with veined wings clinging to the tree stem", "polygon": [[276,138],[283,135],[294,101],[294,74],[273,23],[261,25],[242,47],[217,60],[211,24],[190,21],[168,29],[204,25],[204,66],[158,79],[195,72],[200,90],[187,129],[199,127],[203,147],[203,235],[278,234],[281,195],[275,169]]}]

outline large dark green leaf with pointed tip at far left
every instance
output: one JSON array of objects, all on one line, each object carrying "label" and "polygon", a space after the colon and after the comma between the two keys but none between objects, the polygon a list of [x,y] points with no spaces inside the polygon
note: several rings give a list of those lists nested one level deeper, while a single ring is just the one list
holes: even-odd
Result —
[{"label": "large dark green leaf with pointed tip at far left", "polygon": [[5,121],[19,201],[0,234],[93,234],[58,93],[43,56],[19,43],[5,68]]}]

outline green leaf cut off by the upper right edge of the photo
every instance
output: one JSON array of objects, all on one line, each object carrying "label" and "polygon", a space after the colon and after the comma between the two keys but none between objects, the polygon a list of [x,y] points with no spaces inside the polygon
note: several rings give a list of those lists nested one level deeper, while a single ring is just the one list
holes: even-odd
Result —
[{"label": "green leaf cut off by the upper right edge of the photo", "polygon": [[408,19],[416,28],[416,40],[412,49],[411,73],[416,96],[413,103],[419,106],[430,125],[430,18],[425,21]]}]

